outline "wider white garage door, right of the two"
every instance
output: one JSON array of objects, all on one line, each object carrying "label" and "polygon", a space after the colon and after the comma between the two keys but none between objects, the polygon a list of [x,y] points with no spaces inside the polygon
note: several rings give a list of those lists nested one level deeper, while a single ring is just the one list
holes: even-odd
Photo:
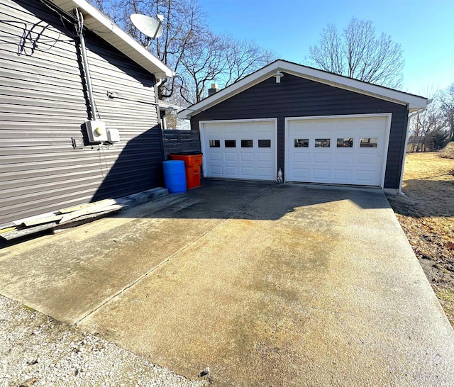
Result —
[{"label": "wider white garage door, right of the two", "polygon": [[286,121],[286,181],[382,186],[389,115]]}]

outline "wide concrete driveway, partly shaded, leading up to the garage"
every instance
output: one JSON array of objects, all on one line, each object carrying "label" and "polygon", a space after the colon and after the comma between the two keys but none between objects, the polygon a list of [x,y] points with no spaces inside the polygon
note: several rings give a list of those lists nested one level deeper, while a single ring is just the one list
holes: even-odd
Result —
[{"label": "wide concrete driveway, partly shaded, leading up to the garage", "polygon": [[381,191],[206,180],[0,251],[0,293],[219,386],[449,386],[454,332]]}]

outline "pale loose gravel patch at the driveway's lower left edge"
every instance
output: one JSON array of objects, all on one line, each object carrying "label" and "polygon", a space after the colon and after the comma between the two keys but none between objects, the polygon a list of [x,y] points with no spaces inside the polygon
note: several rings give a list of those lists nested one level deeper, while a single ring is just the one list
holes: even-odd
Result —
[{"label": "pale loose gravel patch at the driveway's lower left edge", "polygon": [[207,386],[0,296],[0,386]]}]

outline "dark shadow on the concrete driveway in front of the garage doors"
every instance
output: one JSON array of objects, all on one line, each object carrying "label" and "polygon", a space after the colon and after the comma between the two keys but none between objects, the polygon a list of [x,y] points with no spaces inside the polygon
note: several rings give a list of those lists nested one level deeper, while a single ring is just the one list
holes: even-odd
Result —
[{"label": "dark shadow on the concrete driveway in front of the garage doors", "polygon": [[[285,192],[285,194],[284,194]],[[172,206],[162,209],[141,207],[125,211],[121,218],[242,218],[278,220],[294,208],[336,201],[351,201],[359,208],[389,208],[381,190],[334,186],[303,186],[263,181],[204,179],[199,188],[171,195]],[[254,203],[260,203],[255,206]],[[247,207],[248,211],[242,211]],[[265,211],[264,211],[265,209]]]}]

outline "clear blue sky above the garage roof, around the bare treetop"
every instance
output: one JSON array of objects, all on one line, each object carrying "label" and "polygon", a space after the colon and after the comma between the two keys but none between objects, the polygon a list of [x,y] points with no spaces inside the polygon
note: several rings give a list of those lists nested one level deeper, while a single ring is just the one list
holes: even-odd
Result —
[{"label": "clear blue sky above the garage roof, around the bare treetop", "polygon": [[454,83],[454,0],[199,0],[215,33],[255,40],[279,59],[304,64],[333,23],[372,21],[404,50],[402,91],[430,97]]}]

